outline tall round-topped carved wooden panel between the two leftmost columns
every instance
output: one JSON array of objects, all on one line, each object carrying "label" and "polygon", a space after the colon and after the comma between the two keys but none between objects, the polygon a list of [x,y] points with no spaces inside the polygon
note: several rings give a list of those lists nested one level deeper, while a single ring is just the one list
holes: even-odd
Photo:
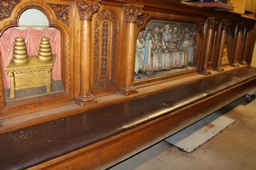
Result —
[{"label": "tall round-topped carved wooden panel between the two leftmost columns", "polygon": [[117,15],[103,10],[96,17],[93,89],[116,86],[119,23]]}]

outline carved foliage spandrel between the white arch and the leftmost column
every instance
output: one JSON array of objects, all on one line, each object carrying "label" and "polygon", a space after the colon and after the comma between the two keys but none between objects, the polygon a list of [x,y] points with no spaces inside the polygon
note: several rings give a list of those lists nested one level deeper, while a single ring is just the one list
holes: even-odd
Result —
[{"label": "carved foliage spandrel between the white arch and the leftmost column", "polygon": [[56,17],[58,20],[64,22],[67,26],[69,26],[69,5],[58,5],[58,4],[50,4],[49,6],[54,10]]}]

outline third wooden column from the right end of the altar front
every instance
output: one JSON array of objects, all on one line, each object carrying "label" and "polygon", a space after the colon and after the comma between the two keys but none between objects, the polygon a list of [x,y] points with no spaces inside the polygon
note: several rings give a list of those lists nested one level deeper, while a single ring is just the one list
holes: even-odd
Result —
[{"label": "third wooden column from the right end of the altar front", "polygon": [[229,20],[222,20],[221,22],[221,35],[220,35],[220,41],[218,45],[218,55],[217,55],[217,61],[216,61],[214,71],[224,71],[224,69],[221,66],[221,62],[222,62],[224,47],[226,43],[227,30],[230,24],[231,22]]}]

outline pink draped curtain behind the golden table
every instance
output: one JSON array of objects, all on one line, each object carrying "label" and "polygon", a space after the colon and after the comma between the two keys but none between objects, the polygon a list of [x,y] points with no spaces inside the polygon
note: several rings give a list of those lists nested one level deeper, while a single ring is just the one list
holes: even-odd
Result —
[{"label": "pink draped curtain behind the golden table", "polygon": [[5,72],[5,68],[13,58],[15,37],[24,37],[28,55],[38,55],[41,37],[49,37],[52,53],[56,54],[55,65],[53,67],[53,80],[61,80],[61,32],[57,29],[49,29],[47,27],[43,30],[37,30],[32,27],[26,30],[9,28],[0,37],[4,88],[10,88],[9,77]]}]

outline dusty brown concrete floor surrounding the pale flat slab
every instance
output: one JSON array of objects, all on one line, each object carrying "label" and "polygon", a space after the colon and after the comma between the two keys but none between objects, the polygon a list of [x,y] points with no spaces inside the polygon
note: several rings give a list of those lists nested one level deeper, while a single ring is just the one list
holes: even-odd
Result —
[{"label": "dusty brown concrete floor surrounding the pale flat slab", "polygon": [[236,122],[193,152],[161,141],[109,170],[255,170],[256,99],[240,98],[217,112]]}]

